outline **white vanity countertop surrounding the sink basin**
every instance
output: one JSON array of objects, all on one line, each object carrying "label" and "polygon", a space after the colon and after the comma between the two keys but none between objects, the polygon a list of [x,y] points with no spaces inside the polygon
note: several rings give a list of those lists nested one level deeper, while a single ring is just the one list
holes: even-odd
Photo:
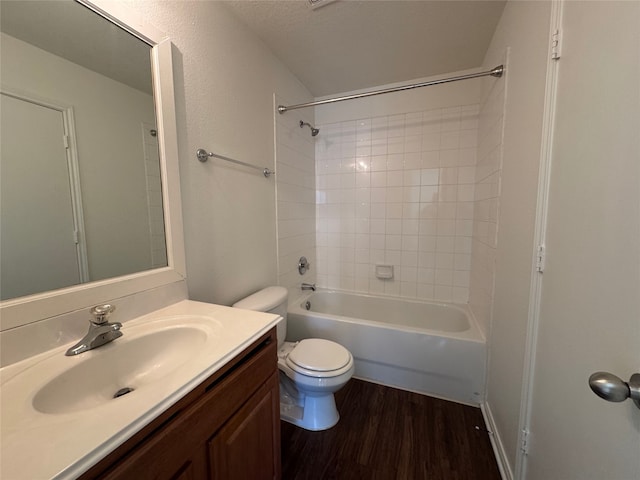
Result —
[{"label": "white vanity countertop surrounding the sink basin", "polygon": [[[70,345],[0,369],[0,478],[37,480],[76,478],[150,423],[253,341],[274,327],[277,315],[184,300],[126,322],[127,332],[149,329],[151,322],[193,317],[215,341],[180,367],[130,394],[71,413],[42,413],[33,407],[34,385],[44,386],[61,371],[111,344],[66,357]],[[210,326],[209,323],[211,322]],[[118,342],[120,339],[112,343]],[[113,348],[113,347],[111,347]],[[47,365],[47,368],[43,368]],[[70,385],[82,389],[82,385]]]}]

